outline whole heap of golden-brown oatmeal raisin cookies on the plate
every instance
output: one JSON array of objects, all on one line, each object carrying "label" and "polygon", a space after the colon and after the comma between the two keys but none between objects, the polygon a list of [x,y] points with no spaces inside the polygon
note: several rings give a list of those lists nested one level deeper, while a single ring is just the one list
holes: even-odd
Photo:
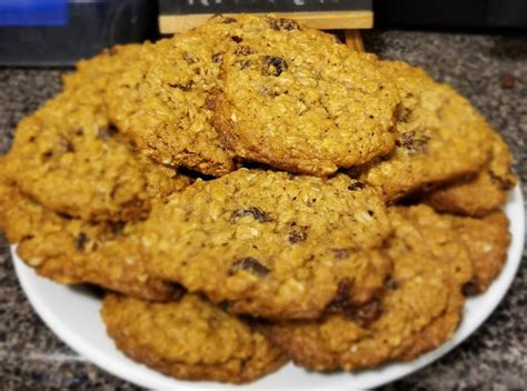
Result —
[{"label": "whole heap of golden-brown oatmeal raisin cookies on the plate", "polygon": [[411,360],[506,260],[510,152],[421,69],[219,16],[63,84],[0,160],[0,227],[40,275],[105,288],[108,334],[168,375]]}]

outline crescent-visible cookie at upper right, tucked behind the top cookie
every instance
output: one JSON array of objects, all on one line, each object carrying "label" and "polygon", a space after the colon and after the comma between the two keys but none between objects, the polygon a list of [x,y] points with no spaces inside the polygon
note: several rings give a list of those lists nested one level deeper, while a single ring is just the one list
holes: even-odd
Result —
[{"label": "crescent-visible cookie at upper right, tucked behind the top cookie", "polygon": [[350,174],[381,189],[391,202],[479,171],[490,156],[490,127],[470,103],[420,68],[382,61],[380,69],[401,94],[397,147]]}]

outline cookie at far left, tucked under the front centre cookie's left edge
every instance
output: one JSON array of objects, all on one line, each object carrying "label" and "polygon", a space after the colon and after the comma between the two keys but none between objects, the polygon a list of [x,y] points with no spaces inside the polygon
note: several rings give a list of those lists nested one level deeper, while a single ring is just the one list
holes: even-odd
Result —
[{"label": "cookie at far left, tucked under the front centre cookie's left edge", "polygon": [[151,278],[132,227],[60,215],[0,181],[0,229],[37,273],[53,281],[92,283],[150,300],[172,300],[181,288]]}]

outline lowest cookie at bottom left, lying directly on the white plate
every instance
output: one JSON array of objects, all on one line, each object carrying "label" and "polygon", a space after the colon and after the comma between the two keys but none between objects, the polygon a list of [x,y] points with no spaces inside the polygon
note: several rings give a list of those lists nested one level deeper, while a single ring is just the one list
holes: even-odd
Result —
[{"label": "lowest cookie at bottom left, lying directly on the white plate", "polygon": [[101,314],[119,350],[173,378],[247,383],[287,361],[248,323],[193,294],[171,303],[108,294]]}]

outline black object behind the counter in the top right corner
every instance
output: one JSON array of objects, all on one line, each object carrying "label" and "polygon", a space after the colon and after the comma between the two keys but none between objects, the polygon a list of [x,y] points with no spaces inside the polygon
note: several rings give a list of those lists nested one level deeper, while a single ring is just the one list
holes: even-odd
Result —
[{"label": "black object behind the counter in the top right corner", "polygon": [[527,29],[526,0],[376,0],[376,27]]}]

